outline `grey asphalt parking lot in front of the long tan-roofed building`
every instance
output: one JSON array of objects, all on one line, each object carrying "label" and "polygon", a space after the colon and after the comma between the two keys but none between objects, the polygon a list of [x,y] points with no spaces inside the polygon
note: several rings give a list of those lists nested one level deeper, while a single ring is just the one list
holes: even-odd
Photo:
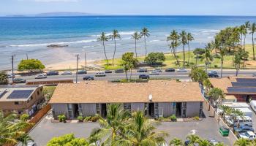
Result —
[{"label": "grey asphalt parking lot in front of the long tan-roofed building", "polygon": [[[59,137],[64,134],[75,134],[75,137],[89,137],[93,128],[99,127],[98,123],[51,123],[51,115],[45,116],[29,133],[39,146],[44,146],[53,137]],[[214,118],[210,118],[206,112],[206,118],[196,122],[165,122],[158,130],[166,131],[169,137],[167,142],[175,137],[185,140],[188,134],[197,134],[204,139],[214,138],[226,145],[231,145],[228,137],[222,137],[218,131],[219,125]]]}]

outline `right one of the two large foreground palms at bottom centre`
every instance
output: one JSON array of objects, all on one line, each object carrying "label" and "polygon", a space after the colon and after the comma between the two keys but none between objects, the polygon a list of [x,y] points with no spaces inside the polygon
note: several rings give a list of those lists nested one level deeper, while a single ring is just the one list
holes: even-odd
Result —
[{"label": "right one of the two large foreground palms at bottom centre", "polygon": [[134,112],[126,126],[124,137],[129,145],[163,145],[167,134],[164,131],[156,131],[157,125],[156,121],[148,120],[142,111]]}]

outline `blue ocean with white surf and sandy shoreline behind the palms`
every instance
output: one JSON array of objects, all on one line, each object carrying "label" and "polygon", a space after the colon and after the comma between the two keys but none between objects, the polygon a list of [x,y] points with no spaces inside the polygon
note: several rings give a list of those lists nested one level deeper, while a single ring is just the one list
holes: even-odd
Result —
[{"label": "blue ocean with white surf and sandy shoreline behind the palms", "polygon": [[[256,17],[238,16],[87,16],[54,18],[0,18],[0,70],[10,69],[10,56],[15,64],[22,58],[38,58],[44,64],[75,60],[76,53],[86,52],[89,60],[104,58],[102,45],[97,37],[102,31],[110,34],[117,29],[121,39],[117,41],[116,56],[134,51],[131,35],[147,27],[148,52],[168,52],[166,37],[170,31],[191,32],[195,40],[192,48],[204,47],[220,29],[238,26],[245,21],[256,22]],[[251,43],[250,36],[247,42]],[[47,45],[69,45],[49,48]],[[106,42],[108,57],[113,55],[113,41]],[[144,55],[143,39],[138,42],[138,54]]]}]

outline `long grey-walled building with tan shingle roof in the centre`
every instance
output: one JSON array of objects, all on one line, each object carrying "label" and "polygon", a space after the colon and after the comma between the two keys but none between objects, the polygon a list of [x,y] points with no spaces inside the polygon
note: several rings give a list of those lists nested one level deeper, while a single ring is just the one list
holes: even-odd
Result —
[{"label": "long grey-walled building with tan shingle roof in the centre", "polygon": [[151,118],[195,117],[203,113],[203,97],[197,82],[150,80],[140,83],[89,81],[59,84],[50,99],[53,116],[99,114],[106,116],[107,104],[120,103],[124,110],[144,110]]}]

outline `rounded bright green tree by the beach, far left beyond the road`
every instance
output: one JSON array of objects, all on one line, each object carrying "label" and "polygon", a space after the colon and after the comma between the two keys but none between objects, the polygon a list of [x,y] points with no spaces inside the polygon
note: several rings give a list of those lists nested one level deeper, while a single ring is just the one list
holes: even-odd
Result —
[{"label": "rounded bright green tree by the beach, far left beyond the road", "polygon": [[19,70],[42,70],[45,69],[45,65],[42,64],[41,61],[37,59],[28,59],[28,60],[21,60],[20,64],[18,64]]}]

